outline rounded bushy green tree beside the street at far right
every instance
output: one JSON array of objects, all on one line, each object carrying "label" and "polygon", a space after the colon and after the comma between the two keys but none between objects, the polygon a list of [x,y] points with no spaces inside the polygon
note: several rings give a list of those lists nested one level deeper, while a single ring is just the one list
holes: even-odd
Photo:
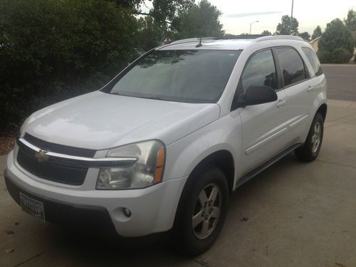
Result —
[{"label": "rounded bushy green tree beside the street at far right", "polygon": [[327,24],[319,41],[318,55],[322,63],[347,63],[352,58],[354,41],[349,28],[340,19]]}]

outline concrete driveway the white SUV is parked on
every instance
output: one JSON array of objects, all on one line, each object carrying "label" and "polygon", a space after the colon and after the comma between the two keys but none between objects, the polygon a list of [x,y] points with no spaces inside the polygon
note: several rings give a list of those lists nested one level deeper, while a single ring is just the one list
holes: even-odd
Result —
[{"label": "concrete driveway the white SUV is parked on", "polygon": [[239,188],[221,236],[197,258],[164,242],[122,249],[42,224],[1,176],[0,266],[356,266],[356,102],[330,100],[327,117],[318,159],[290,154]]}]

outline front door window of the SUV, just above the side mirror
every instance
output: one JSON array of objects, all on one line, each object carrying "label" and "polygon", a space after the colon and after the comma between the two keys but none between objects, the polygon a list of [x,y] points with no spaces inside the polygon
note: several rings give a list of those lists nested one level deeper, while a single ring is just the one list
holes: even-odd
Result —
[{"label": "front door window of the SUV, just above the side mirror", "polygon": [[248,61],[240,82],[244,93],[250,85],[268,85],[277,89],[276,66],[274,65],[272,51],[266,50],[256,53]]}]

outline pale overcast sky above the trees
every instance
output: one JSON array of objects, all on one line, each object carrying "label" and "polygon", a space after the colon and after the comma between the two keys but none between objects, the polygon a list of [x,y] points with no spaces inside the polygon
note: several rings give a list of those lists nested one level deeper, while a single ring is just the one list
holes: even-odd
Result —
[{"label": "pale overcast sky above the trees", "polygon": [[[209,0],[223,14],[220,22],[226,33],[260,34],[264,30],[274,33],[281,17],[290,16],[292,0]],[[196,1],[196,3],[199,1]],[[147,3],[150,6],[150,3]],[[349,9],[356,9],[356,0],[294,0],[293,17],[298,19],[298,31],[310,35],[316,26],[322,30],[333,19],[344,19]]]}]

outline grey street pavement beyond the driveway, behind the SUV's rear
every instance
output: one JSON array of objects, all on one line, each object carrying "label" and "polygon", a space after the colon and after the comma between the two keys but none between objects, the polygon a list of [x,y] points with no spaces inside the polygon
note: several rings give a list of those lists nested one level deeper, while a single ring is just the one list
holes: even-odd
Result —
[{"label": "grey street pavement beyond the driveway, behind the SUV's rear", "polygon": [[323,64],[328,98],[356,101],[356,64]]}]

